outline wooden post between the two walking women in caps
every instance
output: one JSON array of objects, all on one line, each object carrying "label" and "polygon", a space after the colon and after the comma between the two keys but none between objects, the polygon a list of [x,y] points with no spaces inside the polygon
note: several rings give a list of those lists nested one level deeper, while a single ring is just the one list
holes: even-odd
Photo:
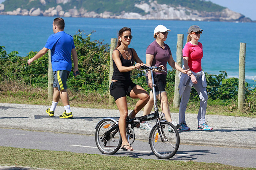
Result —
[{"label": "wooden post between the two walking women in caps", "polygon": [[[182,67],[182,48],[183,48],[183,40],[184,40],[184,35],[183,34],[178,34],[177,35],[178,40],[177,40],[177,59],[176,63]],[[178,108],[180,105],[180,94],[179,94],[179,89],[178,85],[180,83],[180,79],[178,77],[180,71],[176,70],[175,73],[175,84],[174,84],[174,97],[173,97],[173,107]]]}]

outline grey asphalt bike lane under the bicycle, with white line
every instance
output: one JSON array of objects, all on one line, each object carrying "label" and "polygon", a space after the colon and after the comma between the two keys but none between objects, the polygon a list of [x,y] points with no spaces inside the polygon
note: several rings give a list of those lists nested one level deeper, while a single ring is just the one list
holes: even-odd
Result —
[{"label": "grey asphalt bike lane under the bicycle, with white line", "polygon": [[[94,142],[95,138],[93,135],[1,128],[0,134],[2,134],[0,137],[0,146],[53,151],[69,151],[74,153],[101,154]],[[27,142],[28,139],[30,142]],[[49,145],[49,141],[51,145]],[[152,153],[148,141],[135,140],[132,146],[134,151],[119,150],[113,156],[158,159]],[[169,160],[217,162],[232,166],[256,168],[255,155],[256,149],[180,145],[177,153]]]}]

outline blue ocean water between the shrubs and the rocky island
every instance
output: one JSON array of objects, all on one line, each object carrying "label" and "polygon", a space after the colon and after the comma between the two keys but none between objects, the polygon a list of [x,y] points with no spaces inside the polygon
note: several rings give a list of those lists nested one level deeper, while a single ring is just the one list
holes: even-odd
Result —
[{"label": "blue ocean water between the shrubs and the rocky island", "polygon": [[[0,46],[5,46],[7,52],[18,51],[20,56],[26,56],[30,51],[41,50],[48,36],[53,33],[54,18],[0,15]],[[184,34],[185,45],[189,26],[199,25],[204,30],[199,40],[203,44],[203,70],[210,74],[226,71],[228,77],[238,78],[240,42],[246,43],[245,78],[251,86],[256,85],[254,82],[256,23],[100,18],[64,18],[64,20],[66,33],[74,35],[78,29],[84,30],[86,34],[95,31],[91,35],[92,40],[97,39],[104,43],[110,43],[111,38],[116,38],[120,28],[130,27],[133,39],[129,47],[134,48],[144,62],[146,48],[154,41],[154,28],[158,24],[172,30],[165,43],[170,46],[174,60],[176,60],[177,34]],[[171,67],[169,66],[168,69]]]}]

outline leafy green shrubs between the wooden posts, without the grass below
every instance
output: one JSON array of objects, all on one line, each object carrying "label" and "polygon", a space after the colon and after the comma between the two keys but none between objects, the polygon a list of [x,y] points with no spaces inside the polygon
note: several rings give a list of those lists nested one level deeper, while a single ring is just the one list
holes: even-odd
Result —
[{"label": "leafy green shrubs between the wooden posts, without the grass below", "polygon": [[[93,33],[93,32],[91,32]],[[78,67],[80,75],[76,78],[71,74],[68,79],[68,88],[73,91],[97,92],[106,95],[109,93],[109,44],[94,40],[91,41],[90,35],[84,38],[83,32],[78,31],[74,35],[74,43],[78,53]],[[48,54],[35,60],[30,66],[27,60],[32,58],[37,52],[29,52],[26,57],[18,56],[17,51],[7,54],[5,47],[0,46],[0,81],[19,80],[33,87],[47,87],[48,84]],[[74,66],[73,66],[74,68]],[[175,70],[167,71],[166,91],[170,104],[174,95]],[[146,83],[145,73],[139,70],[131,72],[134,83],[150,91]],[[210,105],[229,106],[230,111],[237,106],[238,79],[226,78],[227,73],[220,71],[219,75],[207,74],[207,92]],[[256,88],[252,88],[245,83],[245,112],[255,114],[256,112]],[[131,104],[136,103],[136,100]],[[231,106],[230,106],[231,105]],[[192,88],[190,102],[188,106],[199,106],[199,96]]]}]

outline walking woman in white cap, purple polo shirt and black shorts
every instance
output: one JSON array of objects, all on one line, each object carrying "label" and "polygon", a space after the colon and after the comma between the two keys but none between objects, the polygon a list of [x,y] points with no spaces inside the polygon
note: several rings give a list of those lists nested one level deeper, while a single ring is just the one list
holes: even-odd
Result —
[{"label": "walking woman in white cap, purple polo shirt and black shorts", "polygon": [[[164,41],[167,38],[168,31],[171,31],[170,29],[167,29],[163,25],[158,25],[155,27],[154,30],[154,38],[155,41],[153,41],[146,50],[146,64],[148,66],[157,66],[162,67],[163,70],[166,69],[167,62],[172,66],[174,69],[181,71],[182,73],[186,74],[188,70],[183,70],[176,62],[174,62],[172,58],[172,52],[170,50],[170,47],[164,43]],[[161,108],[162,112],[165,115],[165,119],[168,122],[173,123],[177,128],[179,127],[177,123],[174,123],[171,118],[169,104],[168,104],[168,98],[165,91],[165,85],[166,85],[166,72],[157,72],[155,71],[154,74],[154,82],[157,85],[155,88],[155,91],[157,93],[157,97],[160,99],[160,93],[161,93]],[[151,80],[151,74],[147,74],[147,83],[148,86],[152,89],[152,80]],[[150,114],[150,111],[153,108],[153,93],[150,91],[150,100],[144,107],[143,115]],[[140,123],[141,129],[150,130],[151,126],[148,122]]]}]

